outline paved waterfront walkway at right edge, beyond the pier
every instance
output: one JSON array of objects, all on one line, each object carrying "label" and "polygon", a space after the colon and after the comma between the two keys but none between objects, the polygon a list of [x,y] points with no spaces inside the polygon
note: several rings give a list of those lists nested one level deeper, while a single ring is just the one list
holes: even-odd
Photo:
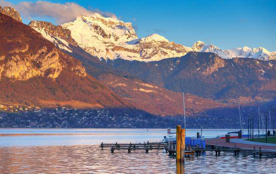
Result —
[{"label": "paved waterfront walkway at right edge, beyond the pier", "polygon": [[260,142],[251,143],[251,141],[246,141],[244,139],[240,139],[240,140],[230,139],[229,143],[226,143],[225,139],[206,139],[206,144],[226,146],[226,147],[235,147],[235,144],[236,144],[236,147],[244,148],[244,149],[254,149],[254,147],[256,147],[256,149],[259,149],[259,147],[262,147],[263,150],[276,150],[275,144],[271,146],[271,143],[260,143]]}]

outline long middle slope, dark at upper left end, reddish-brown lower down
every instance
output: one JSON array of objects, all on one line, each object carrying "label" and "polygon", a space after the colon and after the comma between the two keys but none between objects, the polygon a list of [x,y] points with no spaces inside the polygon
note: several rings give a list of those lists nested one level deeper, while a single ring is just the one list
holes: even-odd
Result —
[{"label": "long middle slope, dark at upper left end, reddish-brown lower down", "polygon": [[[80,59],[88,74],[104,82],[133,107],[154,115],[182,115],[182,95],[158,85],[142,81],[120,69],[114,69],[97,57],[74,49],[72,56]],[[78,50],[78,51],[77,51]],[[98,60],[98,61],[97,61]],[[200,115],[206,110],[227,107],[224,103],[186,94],[186,114]]]}]

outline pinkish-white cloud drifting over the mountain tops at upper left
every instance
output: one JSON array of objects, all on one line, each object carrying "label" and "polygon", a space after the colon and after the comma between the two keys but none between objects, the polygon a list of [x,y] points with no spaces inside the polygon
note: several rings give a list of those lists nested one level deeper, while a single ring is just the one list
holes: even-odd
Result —
[{"label": "pinkish-white cloud drifting over the mountain tops at upper left", "polygon": [[18,4],[12,4],[10,2],[0,0],[0,6],[11,6],[15,8],[22,16],[29,18],[34,17],[52,17],[57,24],[63,24],[68,21],[73,21],[80,15],[90,15],[95,12],[100,13],[106,17],[117,18],[116,15],[109,12],[102,12],[98,9],[91,11],[76,3],[51,3],[47,1],[32,2],[20,2]]}]

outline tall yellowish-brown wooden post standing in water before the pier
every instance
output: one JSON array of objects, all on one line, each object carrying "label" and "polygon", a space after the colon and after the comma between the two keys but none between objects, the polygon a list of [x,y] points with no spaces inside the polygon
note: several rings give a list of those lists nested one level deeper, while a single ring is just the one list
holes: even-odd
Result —
[{"label": "tall yellowish-brown wooden post standing in water before the pier", "polygon": [[185,129],[180,125],[176,126],[176,162],[185,161]]}]

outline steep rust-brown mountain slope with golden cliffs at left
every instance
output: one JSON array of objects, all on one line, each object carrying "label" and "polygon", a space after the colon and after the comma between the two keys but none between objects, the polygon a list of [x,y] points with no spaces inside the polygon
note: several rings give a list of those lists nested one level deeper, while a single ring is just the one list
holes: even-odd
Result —
[{"label": "steep rust-brown mountain slope with golden cliffs at left", "polygon": [[1,103],[129,107],[86,74],[79,60],[57,49],[31,27],[5,14],[0,16]]}]

